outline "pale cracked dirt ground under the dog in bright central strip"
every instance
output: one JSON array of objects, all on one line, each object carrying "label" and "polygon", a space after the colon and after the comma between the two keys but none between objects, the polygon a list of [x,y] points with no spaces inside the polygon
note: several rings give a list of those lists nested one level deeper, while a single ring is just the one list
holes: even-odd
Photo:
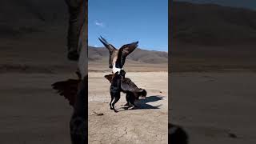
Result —
[{"label": "pale cracked dirt ground under the dog in bright central strip", "polygon": [[[138,87],[147,90],[140,109],[124,110],[125,94],[110,110],[110,82],[104,75],[89,73],[89,143],[167,143],[168,74],[167,72],[129,72]],[[103,114],[103,115],[98,115]]]}]

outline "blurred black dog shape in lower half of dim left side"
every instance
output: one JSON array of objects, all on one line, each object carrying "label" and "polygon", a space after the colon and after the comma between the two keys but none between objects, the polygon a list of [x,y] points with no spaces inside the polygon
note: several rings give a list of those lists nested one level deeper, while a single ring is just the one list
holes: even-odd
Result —
[{"label": "blurred black dog shape in lower half of dim left side", "polygon": [[62,82],[55,82],[52,86],[58,90],[58,94],[64,96],[73,106],[74,112],[70,119],[70,136],[72,144],[84,144],[88,140],[86,113],[86,94],[88,91],[88,77],[81,79],[68,79]]}]

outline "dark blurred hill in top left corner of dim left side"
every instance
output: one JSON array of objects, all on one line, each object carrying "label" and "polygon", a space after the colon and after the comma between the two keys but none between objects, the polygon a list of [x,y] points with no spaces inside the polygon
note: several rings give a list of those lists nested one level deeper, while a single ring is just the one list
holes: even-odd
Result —
[{"label": "dark blurred hill in top left corner of dim left side", "polygon": [[0,37],[14,38],[49,26],[66,26],[68,15],[64,0],[2,0],[0,18]]}]

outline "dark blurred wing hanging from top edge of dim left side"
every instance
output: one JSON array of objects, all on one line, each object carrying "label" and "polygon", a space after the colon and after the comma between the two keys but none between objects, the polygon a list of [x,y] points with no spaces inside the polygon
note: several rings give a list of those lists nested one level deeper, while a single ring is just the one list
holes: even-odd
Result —
[{"label": "dark blurred wing hanging from top edge of dim left side", "polygon": [[67,36],[68,55],[70,60],[77,61],[78,54],[78,40],[82,26],[86,21],[86,0],[65,0],[69,11],[69,28]]}]

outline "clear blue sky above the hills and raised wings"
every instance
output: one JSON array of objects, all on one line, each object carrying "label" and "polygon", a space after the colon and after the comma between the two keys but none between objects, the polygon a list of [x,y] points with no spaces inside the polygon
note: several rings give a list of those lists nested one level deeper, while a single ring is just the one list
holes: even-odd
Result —
[{"label": "clear blue sky above the hills and raised wings", "polygon": [[168,51],[168,0],[89,0],[88,41],[115,47],[138,41],[146,50]]}]

